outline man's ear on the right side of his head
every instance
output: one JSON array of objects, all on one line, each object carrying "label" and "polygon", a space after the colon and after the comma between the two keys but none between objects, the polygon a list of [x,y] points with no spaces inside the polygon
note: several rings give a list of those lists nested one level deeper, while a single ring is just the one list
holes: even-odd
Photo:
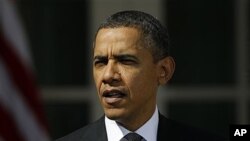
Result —
[{"label": "man's ear on the right side of his head", "polygon": [[166,84],[173,76],[175,70],[175,62],[171,56],[165,57],[164,59],[157,62],[158,68],[158,84]]}]

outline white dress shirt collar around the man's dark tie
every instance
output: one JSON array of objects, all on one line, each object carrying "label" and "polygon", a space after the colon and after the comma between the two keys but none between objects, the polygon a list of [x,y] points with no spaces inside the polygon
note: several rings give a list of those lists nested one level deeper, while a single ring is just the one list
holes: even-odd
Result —
[{"label": "white dress shirt collar around the man's dark tie", "polygon": [[[157,140],[157,129],[159,123],[159,113],[158,108],[156,106],[155,112],[152,117],[139,129],[135,131],[135,133],[141,135],[146,141],[156,141]],[[120,124],[118,124],[114,120],[110,120],[105,116],[105,126],[108,136],[108,141],[120,141],[125,135],[130,133],[131,131],[127,130]]]}]

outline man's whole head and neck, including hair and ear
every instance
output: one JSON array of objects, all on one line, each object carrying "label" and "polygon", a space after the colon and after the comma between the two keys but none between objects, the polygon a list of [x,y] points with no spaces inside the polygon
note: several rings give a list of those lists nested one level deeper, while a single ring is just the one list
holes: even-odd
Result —
[{"label": "man's whole head and neck, including hair and ear", "polygon": [[172,77],[167,31],[138,11],[107,18],[95,38],[93,75],[105,115],[136,130],[153,114],[159,85]]}]

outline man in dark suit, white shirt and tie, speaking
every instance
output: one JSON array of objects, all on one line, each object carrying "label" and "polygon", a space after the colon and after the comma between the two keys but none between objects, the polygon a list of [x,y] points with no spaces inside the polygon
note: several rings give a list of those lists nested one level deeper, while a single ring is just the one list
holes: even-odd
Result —
[{"label": "man in dark suit, white shirt and tie, speaking", "polygon": [[139,11],[111,15],[97,30],[93,50],[105,116],[59,141],[220,140],[158,112],[157,89],[171,79],[175,62],[167,30],[154,17]]}]

